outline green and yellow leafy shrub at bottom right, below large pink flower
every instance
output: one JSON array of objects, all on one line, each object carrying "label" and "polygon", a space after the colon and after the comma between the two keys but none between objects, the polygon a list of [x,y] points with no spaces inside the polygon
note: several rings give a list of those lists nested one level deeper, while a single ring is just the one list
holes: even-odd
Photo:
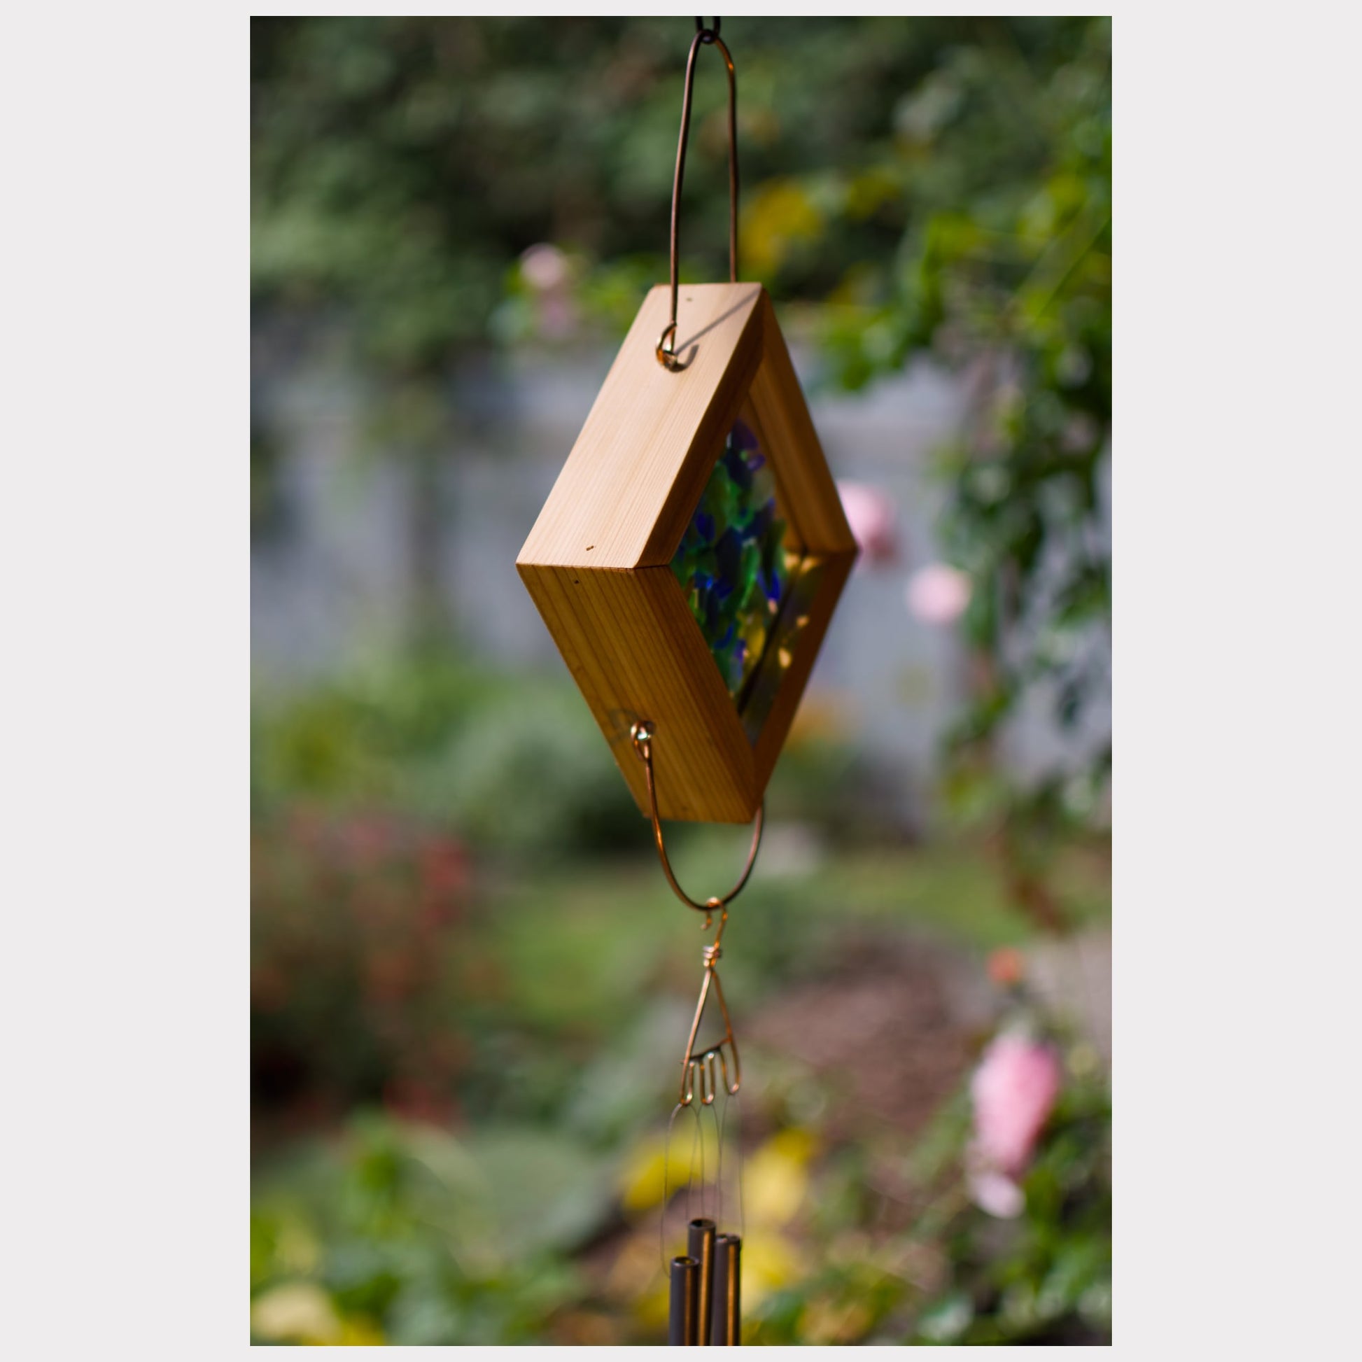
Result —
[{"label": "green and yellow leafy shrub at bottom right, below large pink flower", "polygon": [[[1111,1110],[1103,1080],[1073,1076],[1023,1179],[1016,1219],[966,1192],[962,1090],[908,1160],[904,1229],[876,1233],[884,1199],[865,1154],[819,1170],[810,1229],[819,1267],[767,1294],[745,1343],[1103,1344],[1111,1340]],[[904,1171],[899,1167],[900,1174]]]}]

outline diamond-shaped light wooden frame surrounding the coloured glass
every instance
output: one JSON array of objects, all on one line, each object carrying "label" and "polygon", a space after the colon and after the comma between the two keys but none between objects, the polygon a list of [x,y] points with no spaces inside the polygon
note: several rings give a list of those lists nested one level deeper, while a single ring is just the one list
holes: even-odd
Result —
[{"label": "diamond-shaped light wooden frame surrounding the coloured glass", "polygon": [[[652,289],[516,558],[534,603],[639,808],[631,727],[650,719],[663,819],[748,823],[785,744],[857,546],[765,289],[682,286],[676,353],[655,347],[669,289]],[[789,666],[756,740],[691,614],[671,556],[748,413],[771,460],[786,543],[816,568]]]}]

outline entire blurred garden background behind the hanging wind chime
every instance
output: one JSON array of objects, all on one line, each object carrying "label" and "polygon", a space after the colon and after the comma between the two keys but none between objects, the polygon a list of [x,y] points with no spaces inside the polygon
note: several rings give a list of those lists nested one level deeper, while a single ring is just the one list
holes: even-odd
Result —
[{"label": "entire blurred garden background behind the hanging wind chime", "polygon": [[[252,20],[256,1342],[665,1339],[701,938],[515,557],[666,278],[692,33]],[[1110,20],[722,35],[862,545],[725,933],[745,1342],[1109,1342]]]}]

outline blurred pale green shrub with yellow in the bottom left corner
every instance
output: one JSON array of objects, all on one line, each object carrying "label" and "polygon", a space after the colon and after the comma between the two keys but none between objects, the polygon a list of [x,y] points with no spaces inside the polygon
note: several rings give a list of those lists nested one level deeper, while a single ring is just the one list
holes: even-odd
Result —
[{"label": "blurred pale green shrub with yellow in the bottom left corner", "polygon": [[569,1264],[610,1182],[548,1132],[460,1143],[353,1121],[257,1182],[253,1343],[533,1343],[582,1294]]}]

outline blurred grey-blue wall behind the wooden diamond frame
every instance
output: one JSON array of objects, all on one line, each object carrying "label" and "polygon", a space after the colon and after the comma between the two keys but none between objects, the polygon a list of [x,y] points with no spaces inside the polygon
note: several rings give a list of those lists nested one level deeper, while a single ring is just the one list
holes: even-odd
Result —
[{"label": "blurred grey-blue wall behind the wooden diamond frame", "polygon": [[[515,571],[515,556],[572,448],[613,358],[612,347],[516,350],[470,361],[452,384],[459,430],[418,492],[413,469],[364,419],[365,387],[327,347],[256,338],[253,410],[267,448],[267,507],[252,541],[252,662],[271,689],[306,684],[398,650],[409,632],[414,508],[434,496],[437,595],[473,661],[561,670]],[[821,392],[795,350],[834,474],[893,505],[898,556],[862,564],[839,606],[806,704],[917,793],[934,765],[964,685],[949,625],[910,613],[910,575],[938,558],[941,493],[930,456],[964,415],[963,385],[926,365],[855,395]],[[429,508],[425,508],[429,511]],[[429,523],[430,516],[426,515]],[[1100,737],[1061,738],[1045,699],[1007,737],[1005,755],[1039,772]]]}]

